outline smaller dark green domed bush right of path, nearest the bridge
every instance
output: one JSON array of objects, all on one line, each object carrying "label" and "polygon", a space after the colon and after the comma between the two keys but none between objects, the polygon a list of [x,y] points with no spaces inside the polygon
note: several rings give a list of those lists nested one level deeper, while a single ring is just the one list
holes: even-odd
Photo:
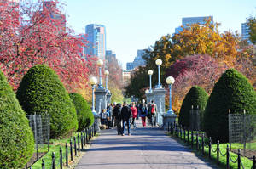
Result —
[{"label": "smaller dark green domed bush right of path, nearest the bridge", "polygon": [[[208,94],[202,87],[191,87],[189,92],[186,94],[185,98],[183,99],[183,104],[181,106],[179,116],[178,116],[178,123],[183,125],[183,127],[189,127],[189,119],[190,119],[190,110],[191,106],[199,107],[201,113],[201,123],[202,123],[202,116],[205,111],[207,105]],[[201,125],[202,127],[202,125]]]}]

